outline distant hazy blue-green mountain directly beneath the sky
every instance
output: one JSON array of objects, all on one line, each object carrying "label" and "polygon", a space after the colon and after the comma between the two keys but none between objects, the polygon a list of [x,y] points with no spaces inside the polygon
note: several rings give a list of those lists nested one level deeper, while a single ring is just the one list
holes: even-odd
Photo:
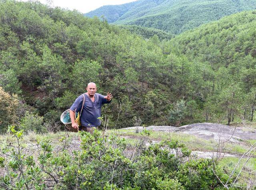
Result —
[{"label": "distant hazy blue-green mountain directly beneath the sky", "polygon": [[138,0],[103,6],[84,15],[103,15],[109,23],[153,27],[179,34],[224,16],[254,9],[256,0]]}]

